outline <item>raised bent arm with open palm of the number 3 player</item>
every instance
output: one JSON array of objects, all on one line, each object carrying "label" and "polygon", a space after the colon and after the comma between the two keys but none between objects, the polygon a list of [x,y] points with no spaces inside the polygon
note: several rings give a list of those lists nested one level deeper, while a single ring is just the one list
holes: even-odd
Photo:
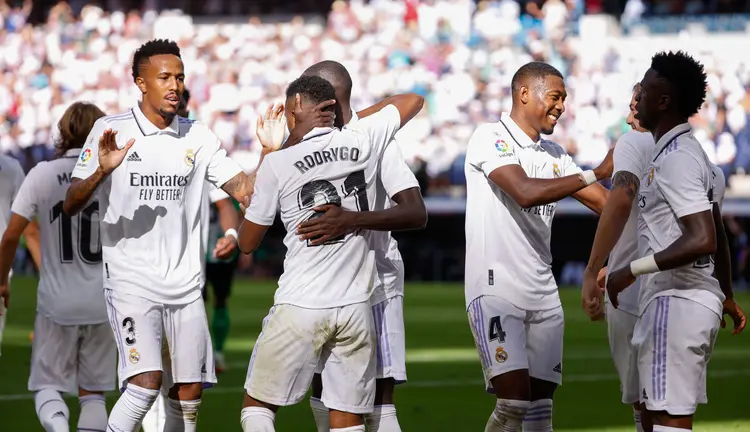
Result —
[{"label": "raised bent arm with open palm of the number 3 player", "polygon": [[[135,140],[130,139],[124,147],[117,144],[117,131],[107,127],[104,119],[94,123],[81,149],[81,158],[71,174],[70,186],[65,194],[63,211],[73,216],[91,201],[94,192],[125,159]],[[88,156],[84,156],[88,155]]]}]

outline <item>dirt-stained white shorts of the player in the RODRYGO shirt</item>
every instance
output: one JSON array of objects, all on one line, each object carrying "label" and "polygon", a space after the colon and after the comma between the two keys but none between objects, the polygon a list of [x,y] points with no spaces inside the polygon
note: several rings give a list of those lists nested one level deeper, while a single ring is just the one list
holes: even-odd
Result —
[{"label": "dirt-stained white shorts of the player in the RODRYGO shirt", "polygon": [[245,390],[261,402],[294,405],[305,397],[323,356],[323,404],[337,411],[371,413],[374,346],[368,302],[331,309],[276,305],[263,320]]}]

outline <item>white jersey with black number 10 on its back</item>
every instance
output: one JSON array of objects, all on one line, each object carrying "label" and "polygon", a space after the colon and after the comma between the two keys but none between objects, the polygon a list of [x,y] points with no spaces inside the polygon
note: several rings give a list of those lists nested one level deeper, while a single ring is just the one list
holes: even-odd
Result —
[{"label": "white jersey with black number 10 on its back", "polygon": [[107,322],[102,287],[99,202],[77,215],[63,212],[70,173],[81,149],[39,162],[29,171],[12,212],[29,221],[39,218],[42,251],[37,313],[60,325]]}]

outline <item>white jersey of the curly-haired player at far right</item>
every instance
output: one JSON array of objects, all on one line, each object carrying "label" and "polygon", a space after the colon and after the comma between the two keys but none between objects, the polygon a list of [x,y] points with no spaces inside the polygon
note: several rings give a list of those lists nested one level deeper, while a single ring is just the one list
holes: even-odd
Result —
[{"label": "white jersey of the curly-haired player at far right", "polygon": [[[713,204],[712,165],[688,123],[676,126],[656,143],[638,195],[639,255],[661,252],[682,235],[680,218],[710,211]],[[673,270],[644,275],[641,313],[656,297],[696,301],[721,316],[724,294],[713,277],[711,256]]]}]

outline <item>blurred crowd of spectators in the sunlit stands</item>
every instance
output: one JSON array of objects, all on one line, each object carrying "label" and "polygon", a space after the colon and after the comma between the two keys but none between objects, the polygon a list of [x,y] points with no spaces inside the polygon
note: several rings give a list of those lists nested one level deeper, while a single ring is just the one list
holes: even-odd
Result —
[{"label": "blurred crowd of spectators in the sunlit stands", "polygon": [[[142,10],[119,10],[119,3],[74,8],[59,1],[45,22],[31,25],[31,0],[0,0],[0,151],[26,169],[52,157],[56,122],[70,103],[92,101],[107,113],[137,103],[132,54],[150,38],[167,37],[182,49],[191,116],[208,123],[244,167],[252,169],[259,155],[258,113],[281,102],[287,83],[307,66],[332,59],[352,74],[355,108],[398,92],[426,96],[426,108],[398,142],[427,195],[462,196],[469,137],[478,123],[510,109],[510,80],[520,65],[543,60],[566,76],[567,109],[550,138],[578,164],[593,166],[627,130],[632,87],[657,49],[637,36],[582,31],[584,9],[604,3],[592,0],[335,1],[320,19],[208,24],[177,10],[157,12],[154,1]],[[672,3],[628,0],[621,19],[633,26]],[[732,2],[677,3],[689,12]],[[683,36],[667,45],[690,51],[709,73],[695,133],[727,174],[748,171],[750,50]],[[734,37],[744,43],[747,34]]]}]

